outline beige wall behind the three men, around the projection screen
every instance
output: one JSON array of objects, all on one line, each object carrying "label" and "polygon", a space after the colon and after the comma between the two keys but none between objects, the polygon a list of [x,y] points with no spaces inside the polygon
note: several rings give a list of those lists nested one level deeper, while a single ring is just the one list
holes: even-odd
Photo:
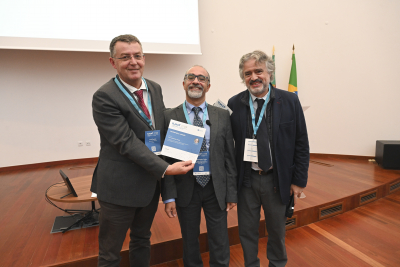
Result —
[{"label": "beige wall behind the three men, around the projection screen", "polygon": [[[199,9],[202,56],[146,55],[145,77],[167,107],[183,101],[193,64],[211,74],[208,101],[227,102],[244,89],[239,58],[273,45],[287,90],[294,43],[311,152],[373,156],[376,140],[400,140],[400,1],[199,0]],[[97,156],[91,96],[114,74],[106,53],[0,50],[0,167]]]}]

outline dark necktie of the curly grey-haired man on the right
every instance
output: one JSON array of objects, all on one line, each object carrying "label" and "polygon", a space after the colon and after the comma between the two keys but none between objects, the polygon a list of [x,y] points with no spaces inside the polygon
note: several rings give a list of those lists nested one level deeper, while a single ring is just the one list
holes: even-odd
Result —
[{"label": "dark necktie of the curly grey-haired man on the right", "polygon": [[[256,110],[256,123],[258,122],[258,118],[260,117],[262,106],[264,105],[264,99],[256,99],[257,101],[257,110]],[[269,138],[268,138],[268,128],[267,128],[267,120],[264,118],[264,114],[261,114],[261,119],[263,119],[260,123],[260,127],[257,131],[257,152],[258,152],[258,166],[263,171],[268,171],[271,168],[271,154],[269,149]]]}]

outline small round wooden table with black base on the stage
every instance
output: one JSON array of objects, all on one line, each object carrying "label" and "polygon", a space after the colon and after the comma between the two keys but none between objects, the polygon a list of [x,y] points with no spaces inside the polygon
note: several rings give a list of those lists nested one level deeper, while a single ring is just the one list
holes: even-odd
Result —
[{"label": "small round wooden table with black base on the stage", "polygon": [[[46,192],[46,197],[51,201],[63,203],[91,202],[92,209],[66,209],[67,212],[74,213],[74,215],[56,217],[51,233],[64,233],[68,230],[86,228],[99,224],[99,211],[95,208],[97,197],[92,197],[92,192],[90,192],[92,175],[71,178],[70,182],[78,195],[77,197],[70,194],[71,191],[69,191],[67,185],[64,183],[57,183],[49,187]],[[84,215],[81,215],[82,213],[84,213]]]}]

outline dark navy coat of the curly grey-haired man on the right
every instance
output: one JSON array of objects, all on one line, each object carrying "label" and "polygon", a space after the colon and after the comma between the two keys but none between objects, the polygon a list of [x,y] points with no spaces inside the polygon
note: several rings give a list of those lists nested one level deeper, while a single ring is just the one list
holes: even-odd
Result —
[{"label": "dark navy coat of the curly grey-haired man on the right", "polygon": [[[248,90],[229,99],[228,106],[233,111],[231,122],[240,190],[245,175],[243,153],[246,131],[251,127]],[[291,184],[300,187],[307,185],[310,161],[306,122],[297,95],[271,86],[266,118],[274,179],[278,183],[282,202],[287,204]]]}]

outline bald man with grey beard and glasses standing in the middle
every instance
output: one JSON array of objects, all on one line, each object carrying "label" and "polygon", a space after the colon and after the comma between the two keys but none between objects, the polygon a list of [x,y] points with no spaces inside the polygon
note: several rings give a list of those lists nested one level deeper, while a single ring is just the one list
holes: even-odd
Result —
[{"label": "bald man with grey beard and glasses standing in the middle", "polygon": [[[171,119],[205,127],[200,154],[209,162],[209,175],[166,176],[162,197],[170,218],[178,214],[183,239],[185,266],[203,266],[199,248],[201,208],[207,223],[210,266],[229,266],[227,211],[236,206],[236,167],[229,112],[208,105],[210,75],[201,66],[193,66],[184,77],[186,101],[165,111],[165,128]],[[195,143],[195,142],[194,142]],[[195,144],[194,144],[195,145]],[[197,160],[199,162],[199,160]],[[196,167],[195,169],[196,170]]]}]

